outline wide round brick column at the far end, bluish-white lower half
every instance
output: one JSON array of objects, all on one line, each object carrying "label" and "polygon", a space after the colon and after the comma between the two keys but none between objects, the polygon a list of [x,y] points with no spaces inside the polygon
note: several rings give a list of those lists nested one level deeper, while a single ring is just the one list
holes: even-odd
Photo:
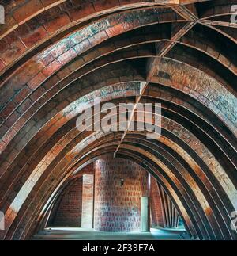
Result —
[{"label": "wide round brick column at the far end, bluish-white lower half", "polygon": [[140,166],[110,155],[96,161],[96,230],[140,231],[141,197],[147,196],[148,174]]}]

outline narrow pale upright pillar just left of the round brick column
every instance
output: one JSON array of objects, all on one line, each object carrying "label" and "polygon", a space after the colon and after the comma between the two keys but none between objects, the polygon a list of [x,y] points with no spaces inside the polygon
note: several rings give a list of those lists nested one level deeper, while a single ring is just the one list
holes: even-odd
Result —
[{"label": "narrow pale upright pillar just left of the round brick column", "polygon": [[83,175],[81,227],[93,227],[94,174]]}]

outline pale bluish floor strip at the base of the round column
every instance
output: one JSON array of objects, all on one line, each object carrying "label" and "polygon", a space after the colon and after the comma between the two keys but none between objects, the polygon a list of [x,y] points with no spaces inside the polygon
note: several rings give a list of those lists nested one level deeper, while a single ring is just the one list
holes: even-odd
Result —
[{"label": "pale bluish floor strip at the base of the round column", "polygon": [[111,233],[82,228],[53,228],[41,231],[33,239],[43,240],[181,240],[185,231],[151,229],[151,232]]}]

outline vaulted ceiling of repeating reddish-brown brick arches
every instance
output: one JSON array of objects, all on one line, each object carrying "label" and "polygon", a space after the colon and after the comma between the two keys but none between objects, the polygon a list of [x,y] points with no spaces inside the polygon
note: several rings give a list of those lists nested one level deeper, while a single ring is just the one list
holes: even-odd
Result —
[{"label": "vaulted ceiling of repeating reddish-brown brick arches", "polygon": [[[190,235],[237,239],[236,0],[0,4],[1,239],[30,237],[72,174],[115,151],[154,175]],[[162,103],[159,140],[77,131],[78,102],[134,102],[141,82],[139,100]]]}]

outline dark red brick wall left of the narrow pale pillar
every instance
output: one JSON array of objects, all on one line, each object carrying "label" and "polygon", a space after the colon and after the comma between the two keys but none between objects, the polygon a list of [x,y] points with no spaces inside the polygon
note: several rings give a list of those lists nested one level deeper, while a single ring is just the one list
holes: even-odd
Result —
[{"label": "dark red brick wall left of the narrow pale pillar", "polygon": [[66,189],[55,207],[51,227],[81,227],[82,177]]}]

